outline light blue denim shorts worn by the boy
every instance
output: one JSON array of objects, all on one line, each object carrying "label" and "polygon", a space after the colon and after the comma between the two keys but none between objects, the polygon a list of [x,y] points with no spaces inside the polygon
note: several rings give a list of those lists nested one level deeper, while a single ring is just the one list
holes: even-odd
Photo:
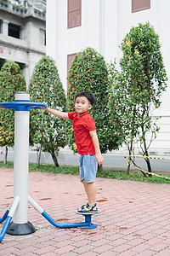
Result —
[{"label": "light blue denim shorts worn by the boy", "polygon": [[80,180],[84,179],[86,183],[94,183],[98,163],[95,159],[95,154],[82,154],[80,156]]}]

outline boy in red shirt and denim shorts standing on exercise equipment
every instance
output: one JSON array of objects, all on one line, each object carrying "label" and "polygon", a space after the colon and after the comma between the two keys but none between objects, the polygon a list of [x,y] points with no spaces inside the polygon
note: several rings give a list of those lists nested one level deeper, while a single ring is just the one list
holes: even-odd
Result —
[{"label": "boy in red shirt and denim shorts standing on exercise equipment", "polygon": [[49,113],[63,119],[73,121],[77,151],[80,156],[80,179],[88,195],[88,203],[83,205],[78,212],[98,212],[96,199],[95,177],[97,163],[103,164],[103,157],[99,149],[99,140],[96,133],[94,119],[88,110],[95,103],[94,95],[86,91],[79,92],[75,97],[75,112],[65,113],[51,108],[44,108]]}]

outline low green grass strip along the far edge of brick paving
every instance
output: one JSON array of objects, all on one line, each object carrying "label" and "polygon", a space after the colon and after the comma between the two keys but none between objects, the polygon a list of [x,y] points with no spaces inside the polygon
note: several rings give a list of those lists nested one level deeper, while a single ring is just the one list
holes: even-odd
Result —
[{"label": "low green grass strip along the far edge of brick paving", "polygon": [[[6,165],[3,164],[3,162],[0,162],[0,167],[2,168],[14,168],[13,162],[7,162]],[[79,175],[79,167],[78,166],[59,166],[59,168],[56,168],[54,165],[45,165],[41,164],[40,166],[37,166],[37,164],[29,164],[29,171],[30,172],[52,172],[52,173],[62,173],[62,174],[71,174],[71,175]],[[170,175],[161,175],[161,177],[144,177],[144,175],[141,172],[130,172],[129,175],[127,175],[126,172],[122,171],[110,171],[110,170],[104,170],[104,172],[97,172],[97,177],[107,177],[107,178],[114,178],[117,180],[134,180],[134,181],[140,181],[140,182],[150,182],[150,183],[170,183],[170,179],[167,179],[166,177],[170,178]]]}]

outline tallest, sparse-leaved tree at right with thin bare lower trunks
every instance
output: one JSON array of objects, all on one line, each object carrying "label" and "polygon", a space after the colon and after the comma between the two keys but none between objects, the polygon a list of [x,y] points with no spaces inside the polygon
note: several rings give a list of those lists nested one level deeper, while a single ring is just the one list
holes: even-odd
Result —
[{"label": "tallest, sparse-leaved tree at right with thin bare lower trunks", "polygon": [[[113,65],[114,81],[111,105],[112,115],[119,115],[129,157],[133,143],[139,141],[142,155],[151,172],[148,148],[159,127],[154,110],[161,106],[161,93],[167,87],[167,75],[161,56],[159,36],[150,23],[132,27],[122,40],[121,72]],[[150,136],[150,143],[147,143]],[[127,172],[129,172],[130,162]]]}]

